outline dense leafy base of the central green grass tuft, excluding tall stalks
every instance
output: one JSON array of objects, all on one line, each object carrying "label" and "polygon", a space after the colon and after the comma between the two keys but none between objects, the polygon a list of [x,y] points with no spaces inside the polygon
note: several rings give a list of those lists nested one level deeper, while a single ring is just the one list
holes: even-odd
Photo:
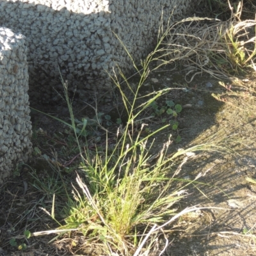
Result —
[{"label": "dense leafy base of the central green grass tuft, excluding tall stalks", "polygon": [[[69,216],[65,220],[67,225],[61,228],[78,228],[84,236],[100,239],[105,250],[110,247],[120,255],[133,255],[145,237],[148,237],[148,242],[143,242],[147,245],[146,250],[152,250],[156,245],[152,243],[156,232],[147,236],[150,228],[155,225],[159,227],[170,216],[179,214],[173,204],[186,196],[184,188],[188,186],[185,184],[175,189],[175,175],[179,174],[181,166],[175,168],[177,154],[166,158],[166,149],[170,143],[172,141],[169,140],[164,145],[155,164],[147,163],[150,155],[146,142],[137,145],[139,150],[134,147],[136,152],[132,151],[131,154],[128,154],[127,147],[127,154],[115,159],[117,168],[116,163],[108,162],[107,166],[102,164],[100,157],[92,162],[84,159],[85,165],[80,168],[86,176],[84,180],[90,177],[90,183],[77,175],[81,191],[74,187],[76,202],[68,212]],[[204,150],[202,145],[194,149]],[[187,150],[181,151],[179,156],[188,153]],[[186,157],[183,163],[188,160]],[[111,252],[108,254],[112,255]]]}]

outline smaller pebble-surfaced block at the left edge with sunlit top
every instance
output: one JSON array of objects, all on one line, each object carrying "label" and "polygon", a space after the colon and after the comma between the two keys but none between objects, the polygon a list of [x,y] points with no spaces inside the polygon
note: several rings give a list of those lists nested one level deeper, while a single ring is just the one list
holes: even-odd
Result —
[{"label": "smaller pebble-surfaced block at the left edge with sunlit top", "polygon": [[0,28],[0,184],[31,154],[25,39]]}]

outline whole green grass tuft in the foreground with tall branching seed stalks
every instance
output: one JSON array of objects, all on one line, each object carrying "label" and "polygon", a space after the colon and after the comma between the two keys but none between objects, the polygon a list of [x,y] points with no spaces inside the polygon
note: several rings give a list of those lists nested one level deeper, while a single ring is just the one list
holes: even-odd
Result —
[{"label": "whole green grass tuft in the foreground with tall branching seed stalks", "polygon": [[[134,123],[138,116],[143,115],[154,100],[173,90],[168,88],[145,95],[145,102],[137,104],[138,99],[140,102],[143,99],[138,92],[150,72],[150,62],[159,60],[159,56],[166,54],[166,49],[161,48],[161,45],[168,33],[170,29],[165,32],[163,28],[159,29],[159,43],[146,60],[141,61],[142,69],[135,65],[135,61],[120,40],[140,75],[140,82],[133,89],[120,68],[114,70],[112,79],[120,90],[129,118],[124,129],[120,128],[116,132],[114,147],[108,145],[109,135],[106,132],[107,143],[103,153],[96,150],[92,154],[86,146],[83,149],[79,144],[81,134],[77,132],[72,102],[68,99],[67,82],[61,77],[71,119],[71,124],[64,124],[74,131],[81,164],[77,166],[78,187],[73,184],[73,198],[68,195],[69,200],[65,207],[65,224],[59,229],[63,232],[76,230],[77,234],[83,234],[90,241],[88,246],[97,244],[108,255],[148,255],[154,248],[156,249],[157,237],[162,234],[166,238],[163,228],[186,212],[179,212],[175,207],[175,203],[187,195],[184,189],[186,184],[182,188],[176,188],[174,178],[179,174],[182,165],[188,161],[189,152],[200,150],[225,152],[223,145],[211,142],[168,155],[168,148],[173,141],[172,138],[166,138],[166,143],[157,152],[159,156],[151,161],[150,149],[154,140],[149,142],[152,141],[150,138],[152,139],[155,134],[168,128],[169,125],[164,125],[157,131],[143,136],[146,124],[141,124],[140,130],[135,132]],[[129,93],[132,93],[132,100],[129,100],[127,92],[122,90],[119,77],[124,79]],[[84,129],[86,123],[82,131]],[[180,157],[184,158],[177,168],[177,159],[180,161]],[[189,211],[196,209],[195,207]],[[84,243],[86,246],[86,241]],[[163,250],[165,248],[166,246]]]}]

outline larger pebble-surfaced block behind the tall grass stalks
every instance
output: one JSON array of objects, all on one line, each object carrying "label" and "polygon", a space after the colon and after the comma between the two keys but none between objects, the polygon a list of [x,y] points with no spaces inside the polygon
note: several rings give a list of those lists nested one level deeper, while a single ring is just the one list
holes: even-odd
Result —
[{"label": "larger pebble-surfaced block behind the tall grass stalks", "polygon": [[[120,40],[139,63],[157,41],[160,17],[184,17],[198,0],[3,0],[0,26],[26,35],[29,95],[52,102],[60,89],[60,73],[86,100],[111,84],[107,72],[132,63]],[[107,72],[106,72],[107,71]]]}]

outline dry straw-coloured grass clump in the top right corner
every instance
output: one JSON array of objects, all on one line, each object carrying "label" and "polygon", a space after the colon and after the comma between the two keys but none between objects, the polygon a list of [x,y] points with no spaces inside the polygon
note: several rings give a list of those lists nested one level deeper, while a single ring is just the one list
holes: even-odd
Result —
[{"label": "dry straw-coloured grass clump in the top right corner", "polygon": [[171,26],[163,57],[187,70],[188,83],[203,73],[236,79],[247,70],[255,70],[256,21],[240,19],[241,2],[236,13],[228,4],[231,17],[227,21],[191,17]]}]

